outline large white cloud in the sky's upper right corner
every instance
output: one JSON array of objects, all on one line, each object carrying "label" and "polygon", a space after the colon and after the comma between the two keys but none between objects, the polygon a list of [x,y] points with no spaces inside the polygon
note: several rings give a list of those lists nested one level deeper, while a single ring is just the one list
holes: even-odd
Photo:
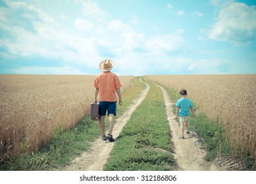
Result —
[{"label": "large white cloud in the sky's upper right corner", "polygon": [[244,3],[231,3],[218,12],[209,38],[233,43],[249,43],[256,36],[256,10]]}]

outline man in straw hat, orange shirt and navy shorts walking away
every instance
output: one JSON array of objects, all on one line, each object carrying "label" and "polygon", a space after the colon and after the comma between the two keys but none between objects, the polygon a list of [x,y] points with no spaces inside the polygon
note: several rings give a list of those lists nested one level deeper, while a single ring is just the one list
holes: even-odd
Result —
[{"label": "man in straw hat, orange shirt and navy shorts walking away", "polygon": [[[99,64],[101,74],[97,75],[94,80],[95,98],[94,103],[97,103],[97,95],[99,93],[99,127],[101,128],[101,139],[111,142],[115,141],[112,135],[114,127],[114,116],[116,116],[116,93],[119,97],[119,105],[122,105],[122,95],[120,80],[116,74],[110,70],[113,68],[113,60],[105,59]],[[105,116],[108,112],[109,116],[109,133],[105,135]]]}]

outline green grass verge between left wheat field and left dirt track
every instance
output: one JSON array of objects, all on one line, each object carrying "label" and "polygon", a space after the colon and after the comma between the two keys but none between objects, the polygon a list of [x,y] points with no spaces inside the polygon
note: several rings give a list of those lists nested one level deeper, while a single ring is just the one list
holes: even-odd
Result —
[{"label": "green grass verge between left wheat field and left dirt track", "polygon": [[[118,106],[118,116],[127,110],[132,101],[140,94],[145,85],[140,78],[134,78],[130,87],[122,91],[122,106]],[[106,129],[108,129],[106,118]],[[91,141],[100,137],[99,123],[90,120],[88,115],[78,121],[70,129],[58,127],[47,144],[34,152],[30,152],[29,145],[22,143],[22,151],[18,156],[7,152],[0,161],[0,170],[59,170],[66,166],[76,156],[88,150]]]}]

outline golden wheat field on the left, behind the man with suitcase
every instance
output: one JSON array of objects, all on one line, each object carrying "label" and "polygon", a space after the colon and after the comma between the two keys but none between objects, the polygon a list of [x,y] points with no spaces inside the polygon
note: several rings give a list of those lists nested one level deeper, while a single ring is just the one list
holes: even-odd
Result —
[{"label": "golden wheat field on the left, behind the man with suitcase", "polygon": [[[0,75],[0,157],[49,140],[53,129],[72,127],[88,114],[95,76]],[[121,90],[134,77],[120,76]]]}]

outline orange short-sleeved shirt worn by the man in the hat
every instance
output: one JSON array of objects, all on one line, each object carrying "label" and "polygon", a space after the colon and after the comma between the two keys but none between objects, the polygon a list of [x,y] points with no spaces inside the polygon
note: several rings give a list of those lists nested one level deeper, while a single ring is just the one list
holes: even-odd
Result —
[{"label": "orange short-sleeved shirt worn by the man in the hat", "polygon": [[94,87],[99,89],[99,101],[116,102],[116,89],[122,85],[116,74],[102,72],[96,76]]}]

